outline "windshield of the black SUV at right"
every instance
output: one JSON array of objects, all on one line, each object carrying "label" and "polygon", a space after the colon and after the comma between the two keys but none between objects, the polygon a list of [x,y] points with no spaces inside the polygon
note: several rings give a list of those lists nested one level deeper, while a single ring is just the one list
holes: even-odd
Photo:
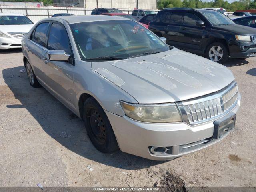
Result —
[{"label": "windshield of the black SUV at right", "polygon": [[235,24],[230,18],[217,11],[200,10],[200,12],[213,26]]}]

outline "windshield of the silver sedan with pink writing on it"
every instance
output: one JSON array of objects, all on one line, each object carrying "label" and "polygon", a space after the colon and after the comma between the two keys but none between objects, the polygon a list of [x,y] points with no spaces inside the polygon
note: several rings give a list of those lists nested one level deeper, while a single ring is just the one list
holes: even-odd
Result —
[{"label": "windshield of the silver sedan with pink writing on it", "polygon": [[131,58],[170,50],[155,34],[132,20],[70,24],[82,60]]}]

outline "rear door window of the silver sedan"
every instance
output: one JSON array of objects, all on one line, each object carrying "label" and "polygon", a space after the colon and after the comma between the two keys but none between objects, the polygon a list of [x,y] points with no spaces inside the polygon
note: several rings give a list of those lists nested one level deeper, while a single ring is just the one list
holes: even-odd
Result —
[{"label": "rear door window of the silver sedan", "polygon": [[34,42],[46,47],[46,34],[48,30],[49,23],[41,23],[36,27],[34,34]]}]

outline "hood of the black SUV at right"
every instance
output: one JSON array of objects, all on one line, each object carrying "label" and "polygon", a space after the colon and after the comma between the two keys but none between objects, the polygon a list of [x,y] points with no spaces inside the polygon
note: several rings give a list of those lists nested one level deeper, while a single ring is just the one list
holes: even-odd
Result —
[{"label": "hood of the black SUV at right", "polygon": [[214,29],[232,32],[235,35],[256,35],[254,28],[238,24],[214,26]]}]

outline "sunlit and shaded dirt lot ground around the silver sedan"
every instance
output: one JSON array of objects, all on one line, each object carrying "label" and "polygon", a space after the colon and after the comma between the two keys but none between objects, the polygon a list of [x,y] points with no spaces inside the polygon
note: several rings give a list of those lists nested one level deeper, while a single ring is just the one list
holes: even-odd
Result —
[{"label": "sunlit and shaded dirt lot ground around the silver sedan", "polygon": [[83,122],[19,72],[21,50],[0,52],[0,186],[256,186],[256,58],[225,66],[242,95],[236,130],[210,148],[157,162],[98,152]]}]

